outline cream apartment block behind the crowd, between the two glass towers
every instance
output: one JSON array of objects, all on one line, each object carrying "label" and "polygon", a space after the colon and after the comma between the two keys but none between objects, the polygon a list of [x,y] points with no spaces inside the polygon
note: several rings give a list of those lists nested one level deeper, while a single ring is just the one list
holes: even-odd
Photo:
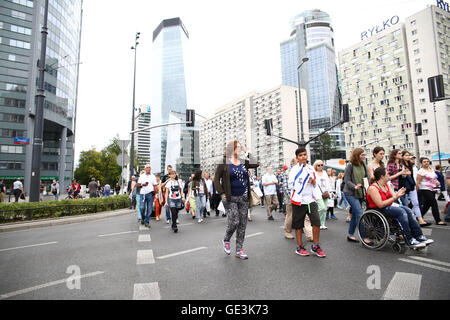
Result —
[{"label": "cream apartment block behind the crowd, between the two glass towers", "polygon": [[[307,101],[302,90],[302,102]],[[303,103],[307,110],[307,103]],[[232,140],[239,140],[260,163],[258,175],[269,166],[274,169],[289,165],[295,157],[297,145],[266,134],[265,119],[272,119],[273,134],[284,138],[300,140],[300,110],[298,89],[278,86],[263,93],[251,92],[216,110],[205,120],[200,130],[200,157],[203,172],[214,172],[222,163],[225,146]],[[308,112],[303,112],[305,132],[308,128]],[[308,134],[305,139],[309,138]]]}]

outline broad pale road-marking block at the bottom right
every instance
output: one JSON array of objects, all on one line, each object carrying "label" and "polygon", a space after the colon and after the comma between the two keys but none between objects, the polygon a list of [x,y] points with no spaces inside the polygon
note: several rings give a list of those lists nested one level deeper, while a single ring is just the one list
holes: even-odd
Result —
[{"label": "broad pale road-marking block at the bottom right", "polygon": [[419,300],[422,275],[396,272],[382,300]]}]

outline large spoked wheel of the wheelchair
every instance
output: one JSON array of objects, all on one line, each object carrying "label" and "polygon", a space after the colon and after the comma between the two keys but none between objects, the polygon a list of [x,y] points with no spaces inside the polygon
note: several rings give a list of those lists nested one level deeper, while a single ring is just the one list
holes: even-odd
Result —
[{"label": "large spoked wheel of the wheelchair", "polygon": [[[365,233],[365,237],[362,233]],[[389,240],[389,234],[389,223],[382,213],[369,209],[362,214],[358,222],[358,235],[364,247],[382,249]],[[364,238],[370,239],[370,243],[365,242]]]}]

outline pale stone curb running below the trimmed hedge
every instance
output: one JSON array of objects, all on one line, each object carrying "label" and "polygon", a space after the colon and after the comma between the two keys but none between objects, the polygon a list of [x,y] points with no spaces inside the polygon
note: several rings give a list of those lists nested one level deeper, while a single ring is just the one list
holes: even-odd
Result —
[{"label": "pale stone curb running below the trimmed hedge", "polygon": [[105,219],[105,218],[110,218],[110,217],[123,216],[123,215],[127,215],[130,213],[135,213],[135,212],[136,212],[136,210],[120,209],[120,210],[115,210],[115,211],[86,214],[86,215],[74,216],[74,217],[69,217],[69,218],[64,217],[64,218],[55,218],[55,219],[36,220],[36,221],[30,221],[30,222],[18,222],[18,223],[0,226],[0,233],[10,232],[10,231],[19,231],[19,230],[28,230],[28,229],[42,228],[42,227],[52,227],[52,226],[80,223],[80,222],[86,222],[86,221],[95,221],[95,220],[100,220],[100,219]]}]

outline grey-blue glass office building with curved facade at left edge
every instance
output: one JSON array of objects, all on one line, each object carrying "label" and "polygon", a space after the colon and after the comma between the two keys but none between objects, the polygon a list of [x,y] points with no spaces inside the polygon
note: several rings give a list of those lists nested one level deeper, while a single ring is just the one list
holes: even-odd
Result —
[{"label": "grey-blue glass office building with curved facade at left edge", "polygon": [[[43,7],[43,0],[0,2],[0,177],[25,179],[26,193]],[[73,177],[81,19],[82,0],[50,0],[41,179],[55,178],[61,188]],[[29,145],[14,143],[27,138]]]}]

